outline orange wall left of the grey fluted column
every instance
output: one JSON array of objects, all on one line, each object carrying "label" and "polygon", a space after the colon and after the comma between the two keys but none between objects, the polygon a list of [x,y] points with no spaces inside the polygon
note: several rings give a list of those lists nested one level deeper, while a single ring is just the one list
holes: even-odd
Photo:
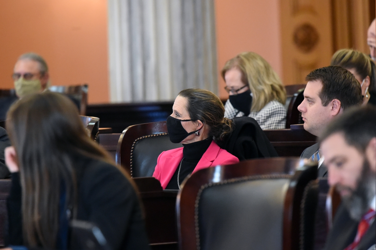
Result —
[{"label": "orange wall left of the grey fluted column", "polygon": [[89,102],[108,102],[106,0],[1,0],[0,88],[13,88],[21,54],[49,65],[52,85],[89,84]]}]

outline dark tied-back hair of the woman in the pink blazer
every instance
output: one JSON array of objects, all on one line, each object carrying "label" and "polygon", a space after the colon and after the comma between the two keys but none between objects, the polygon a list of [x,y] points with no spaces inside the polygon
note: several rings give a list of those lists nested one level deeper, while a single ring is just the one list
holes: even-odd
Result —
[{"label": "dark tied-back hair of the woman in the pink blazer", "polygon": [[187,99],[187,111],[194,120],[200,120],[209,128],[209,136],[222,141],[232,132],[232,120],[224,117],[224,106],[218,96],[208,90],[188,88],[179,96]]}]

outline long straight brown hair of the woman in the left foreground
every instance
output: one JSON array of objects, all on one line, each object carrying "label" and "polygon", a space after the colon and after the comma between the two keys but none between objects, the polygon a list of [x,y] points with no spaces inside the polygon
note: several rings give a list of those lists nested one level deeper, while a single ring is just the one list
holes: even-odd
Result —
[{"label": "long straight brown hair of the woman in the left foreground", "polygon": [[77,175],[83,171],[76,156],[115,163],[89,138],[77,107],[59,93],[20,99],[8,112],[6,128],[20,169],[24,244],[55,249],[61,190],[76,216]]}]

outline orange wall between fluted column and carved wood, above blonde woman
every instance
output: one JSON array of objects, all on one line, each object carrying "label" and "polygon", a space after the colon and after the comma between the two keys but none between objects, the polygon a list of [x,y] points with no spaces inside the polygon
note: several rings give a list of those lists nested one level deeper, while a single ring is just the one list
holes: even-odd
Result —
[{"label": "orange wall between fluted column and carved wood, above blonde woman", "polygon": [[220,76],[224,63],[253,51],[267,60],[282,79],[279,0],[215,0],[219,94],[226,98]]}]

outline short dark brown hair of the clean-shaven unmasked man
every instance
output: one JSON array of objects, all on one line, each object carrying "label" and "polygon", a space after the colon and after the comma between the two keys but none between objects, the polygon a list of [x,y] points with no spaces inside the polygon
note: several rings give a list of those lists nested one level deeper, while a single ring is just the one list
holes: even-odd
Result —
[{"label": "short dark brown hair of the clean-shaven unmasked man", "polygon": [[327,66],[315,69],[307,75],[306,81],[321,81],[323,87],[318,96],[324,107],[333,99],[338,99],[343,109],[362,103],[362,89],[359,82],[343,67]]}]

